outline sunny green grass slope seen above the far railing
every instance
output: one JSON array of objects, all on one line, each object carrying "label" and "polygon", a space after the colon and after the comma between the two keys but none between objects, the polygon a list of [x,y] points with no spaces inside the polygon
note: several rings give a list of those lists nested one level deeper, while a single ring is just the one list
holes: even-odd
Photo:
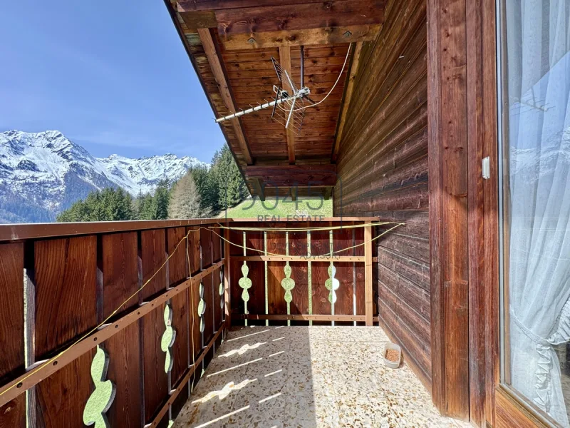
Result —
[{"label": "sunny green grass slope seen above the far railing", "polygon": [[[261,202],[258,198],[248,198],[242,203],[219,213],[219,217],[228,218],[258,218],[259,216],[269,216],[266,220],[284,220],[288,216],[290,219],[303,220],[307,216],[332,217],[333,200],[323,200],[323,198],[266,198]],[[297,216],[297,218],[295,218]]]}]

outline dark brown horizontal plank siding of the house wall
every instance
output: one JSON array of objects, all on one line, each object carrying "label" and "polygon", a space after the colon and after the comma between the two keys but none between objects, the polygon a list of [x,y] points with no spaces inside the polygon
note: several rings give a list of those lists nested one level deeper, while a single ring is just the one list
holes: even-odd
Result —
[{"label": "dark brown horizontal plank siding of the house wall", "polygon": [[430,388],[426,31],[425,1],[388,1],[378,39],[363,44],[333,203],[335,215],[406,223],[376,241],[378,312]]}]

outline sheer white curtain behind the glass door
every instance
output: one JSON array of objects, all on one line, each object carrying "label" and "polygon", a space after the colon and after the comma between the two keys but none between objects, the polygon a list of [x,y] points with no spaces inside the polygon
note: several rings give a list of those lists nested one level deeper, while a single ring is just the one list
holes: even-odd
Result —
[{"label": "sheer white curtain behind the glass door", "polygon": [[[507,0],[512,386],[570,427],[570,0]],[[566,394],[570,394],[570,391]]]}]

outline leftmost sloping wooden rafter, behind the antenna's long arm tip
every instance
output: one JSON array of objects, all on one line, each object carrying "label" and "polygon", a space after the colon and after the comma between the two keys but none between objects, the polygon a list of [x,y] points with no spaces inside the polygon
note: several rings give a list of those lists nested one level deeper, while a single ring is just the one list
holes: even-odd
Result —
[{"label": "leftmost sloping wooden rafter, behind the antenna's long arm tip", "polygon": [[[234,113],[237,111],[234,103],[234,97],[227,81],[224,66],[222,66],[222,61],[220,61],[219,58],[216,42],[212,38],[212,34],[210,33],[209,29],[198,29],[198,35],[200,41],[202,41],[204,52],[208,58],[209,66],[212,68],[212,73],[214,74],[214,78],[219,88],[219,93],[222,96],[222,100],[224,101],[224,105],[227,107],[229,112]],[[245,163],[247,163],[247,165],[252,165],[252,152],[249,150],[249,145],[247,144],[247,140],[245,138],[244,131],[239,119],[233,120],[232,126],[234,127],[234,131],[236,133],[239,148],[242,149],[242,156],[244,156]]]}]

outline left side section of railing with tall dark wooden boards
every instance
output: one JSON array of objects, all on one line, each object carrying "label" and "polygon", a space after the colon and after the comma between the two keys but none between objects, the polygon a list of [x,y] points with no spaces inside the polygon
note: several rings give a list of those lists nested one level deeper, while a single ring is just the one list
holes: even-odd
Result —
[{"label": "left side section of railing with tall dark wooden boards", "polygon": [[[5,389],[2,385],[19,382],[16,379],[22,377],[25,367],[57,355],[110,315],[111,330],[116,322],[116,332],[108,339],[98,340],[104,330],[93,333],[86,339],[89,344],[78,345],[85,352],[71,362],[62,357],[63,367],[45,379],[40,377],[40,382],[36,380],[28,394],[0,401],[1,427],[26,427],[26,399],[29,427],[83,427],[83,409],[94,390],[90,370],[97,344],[108,355],[105,380],[116,388],[106,412],[110,427],[167,427],[169,420],[175,419],[187,401],[189,382],[197,381],[192,363],[203,359],[197,370],[202,374],[202,365],[207,365],[219,345],[223,328],[224,295],[219,293],[224,268],[222,241],[209,229],[191,231],[197,228],[182,225],[118,233],[93,230],[81,236],[0,243],[0,391]],[[216,231],[221,234],[219,228]],[[186,245],[183,238],[188,232]],[[154,275],[181,240],[175,255]],[[190,275],[202,277],[190,282]],[[113,314],[147,280],[150,282],[138,296]],[[199,317],[192,322],[200,281],[206,302],[203,333]],[[182,291],[170,292],[172,298],[165,298],[170,290],[177,290],[175,287]],[[167,328],[165,305],[172,308],[176,332],[169,373],[161,349]],[[138,317],[142,308],[145,313]],[[125,322],[132,316],[134,322]],[[56,367],[57,360],[49,366]],[[176,394],[172,395],[172,390]]]}]

